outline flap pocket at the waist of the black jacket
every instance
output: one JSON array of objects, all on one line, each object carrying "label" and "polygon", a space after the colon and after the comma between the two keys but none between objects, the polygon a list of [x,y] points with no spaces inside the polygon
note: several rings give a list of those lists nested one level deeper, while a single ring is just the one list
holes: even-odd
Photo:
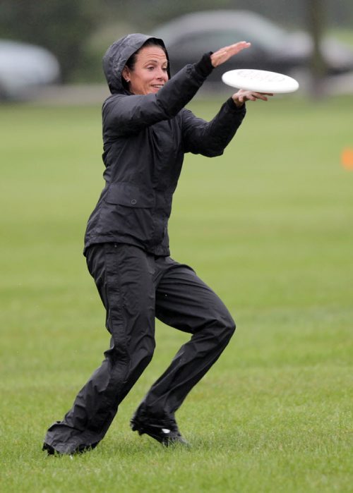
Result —
[{"label": "flap pocket at the waist of the black jacket", "polygon": [[145,209],[155,207],[155,195],[131,183],[110,183],[104,200],[108,204],[119,204],[125,207]]}]

